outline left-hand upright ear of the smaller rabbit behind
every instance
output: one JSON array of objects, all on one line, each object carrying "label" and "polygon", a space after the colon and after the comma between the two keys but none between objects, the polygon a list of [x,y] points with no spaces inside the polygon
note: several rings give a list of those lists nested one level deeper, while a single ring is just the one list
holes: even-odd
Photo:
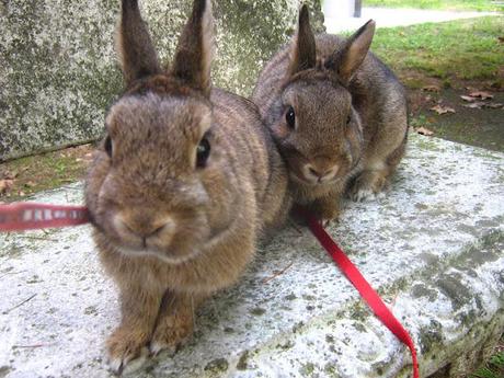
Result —
[{"label": "left-hand upright ear of the smaller rabbit behind", "polygon": [[314,68],[317,64],[317,49],[313,32],[310,26],[308,7],[303,4],[299,11],[298,31],[294,38],[290,57],[289,73]]}]

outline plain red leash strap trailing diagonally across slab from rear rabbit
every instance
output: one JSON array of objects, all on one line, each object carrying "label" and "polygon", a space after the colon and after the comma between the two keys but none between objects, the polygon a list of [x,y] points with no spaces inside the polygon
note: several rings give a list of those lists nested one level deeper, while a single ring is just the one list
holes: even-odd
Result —
[{"label": "plain red leash strap trailing diagonally across slab from rear rabbit", "polygon": [[368,284],[366,278],[360,274],[357,267],[350,261],[345,253],[332,240],[331,236],[323,229],[322,225],[307,210],[298,209],[299,214],[308,221],[311,232],[316,236],[322,247],[331,255],[343,274],[348,278],[352,285],[358,290],[360,296],[366,300],[378,319],[403,343],[411,352],[413,360],[413,378],[419,378],[419,362],[416,359],[416,350],[408,331],[396,319],[393,313],[383,303],[375,289]]}]

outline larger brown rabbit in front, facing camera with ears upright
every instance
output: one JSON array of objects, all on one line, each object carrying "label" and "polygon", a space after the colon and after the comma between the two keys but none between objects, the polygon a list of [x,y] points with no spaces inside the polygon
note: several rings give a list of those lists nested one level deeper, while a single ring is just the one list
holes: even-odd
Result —
[{"label": "larger brown rabbit in front, facing camera with ears upright", "polygon": [[127,89],[106,116],[85,201],[122,321],[110,364],[174,348],[195,307],[233,284],[257,238],[285,219],[288,175],[255,105],[210,88],[210,0],[195,0],[170,71],[137,0],[118,32]]}]

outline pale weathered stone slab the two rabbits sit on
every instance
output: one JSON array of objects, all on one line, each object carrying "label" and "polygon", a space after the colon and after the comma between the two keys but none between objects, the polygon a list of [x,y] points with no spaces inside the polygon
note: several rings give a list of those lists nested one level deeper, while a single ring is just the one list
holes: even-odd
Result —
[{"label": "pale weathered stone slab the two rabbits sit on", "polygon": [[[422,377],[457,377],[504,330],[504,154],[411,136],[385,199],[330,232],[410,331]],[[80,203],[81,185],[36,201]],[[79,227],[0,236],[0,377],[108,377],[116,291]],[[287,228],[137,377],[409,377],[408,350],[305,229]],[[462,373],[461,373],[462,371]]]}]

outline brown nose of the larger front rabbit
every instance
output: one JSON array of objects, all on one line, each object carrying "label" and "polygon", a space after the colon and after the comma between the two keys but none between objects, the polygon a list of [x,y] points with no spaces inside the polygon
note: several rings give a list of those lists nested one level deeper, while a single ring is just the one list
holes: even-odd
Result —
[{"label": "brown nose of the larger front rabbit", "polygon": [[171,217],[151,218],[146,215],[119,215],[116,219],[116,226],[119,231],[140,238],[145,247],[147,239],[173,230],[175,224]]}]

